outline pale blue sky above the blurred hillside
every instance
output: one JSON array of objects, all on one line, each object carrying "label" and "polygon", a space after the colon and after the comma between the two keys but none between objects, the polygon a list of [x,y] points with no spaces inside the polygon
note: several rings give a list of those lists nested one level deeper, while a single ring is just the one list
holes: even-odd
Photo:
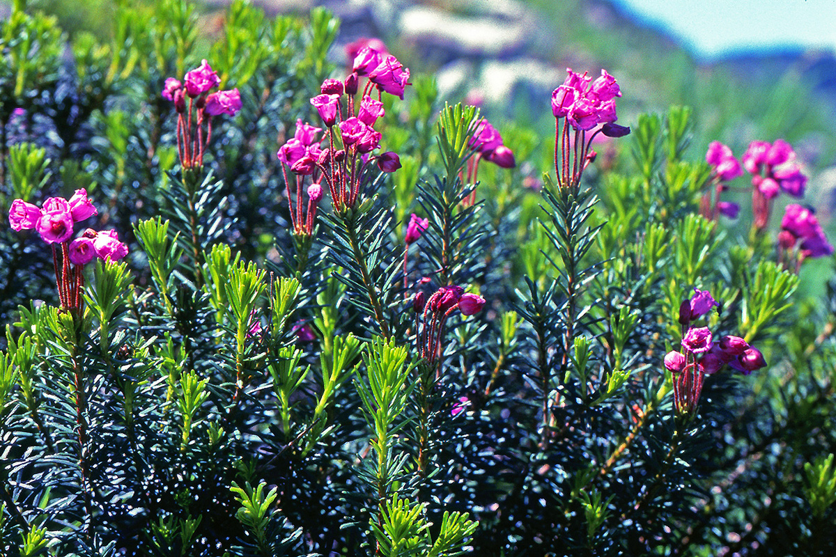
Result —
[{"label": "pale blue sky above the blurred hillside", "polygon": [[738,48],[836,51],[836,0],[614,0],[682,38],[701,58]]}]

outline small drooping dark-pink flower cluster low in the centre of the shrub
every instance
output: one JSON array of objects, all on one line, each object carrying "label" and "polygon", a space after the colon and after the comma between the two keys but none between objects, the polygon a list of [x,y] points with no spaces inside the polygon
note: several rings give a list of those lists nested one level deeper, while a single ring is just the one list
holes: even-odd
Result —
[{"label": "small drooping dark-pink flower cluster low in the centre of the shrub", "polygon": [[429,299],[422,291],[415,294],[412,307],[415,310],[418,357],[431,367],[437,366],[436,373],[440,373],[441,355],[444,353],[441,341],[447,317],[456,310],[461,311],[461,315],[472,316],[482,311],[483,306],[485,298],[477,294],[465,294],[461,286],[441,286]]}]

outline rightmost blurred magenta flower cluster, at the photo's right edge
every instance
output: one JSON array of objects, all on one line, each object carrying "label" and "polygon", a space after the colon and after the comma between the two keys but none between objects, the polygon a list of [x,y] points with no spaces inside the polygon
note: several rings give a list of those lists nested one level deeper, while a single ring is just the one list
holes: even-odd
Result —
[{"label": "rightmost blurred magenta flower cluster, at the photo's right edge", "polygon": [[821,257],[833,254],[833,246],[824,235],[813,210],[797,203],[787,205],[778,233],[778,260],[786,268],[798,272],[801,263],[808,257]]}]

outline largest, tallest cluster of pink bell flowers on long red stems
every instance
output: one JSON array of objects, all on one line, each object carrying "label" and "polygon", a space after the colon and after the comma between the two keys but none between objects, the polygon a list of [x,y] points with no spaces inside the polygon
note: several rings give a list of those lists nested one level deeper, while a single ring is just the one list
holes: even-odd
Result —
[{"label": "largest, tallest cluster of pink bell flowers on long red stems", "polygon": [[[354,96],[361,77],[367,77],[368,81],[358,104]],[[397,154],[373,154],[380,148],[382,138],[375,124],[385,114],[381,94],[394,94],[403,99],[409,77],[410,71],[403,68],[394,56],[366,46],[357,53],[353,71],[344,81],[325,79],[320,94],[311,99],[311,104],[328,128],[326,136],[329,144],[316,159],[309,156],[302,167],[297,170],[292,167],[291,171],[300,174],[298,170],[308,171],[314,166],[319,169],[328,185],[335,210],[354,207],[370,162],[374,161],[383,172],[394,172],[400,168]],[[370,96],[375,88],[377,99]]]}]

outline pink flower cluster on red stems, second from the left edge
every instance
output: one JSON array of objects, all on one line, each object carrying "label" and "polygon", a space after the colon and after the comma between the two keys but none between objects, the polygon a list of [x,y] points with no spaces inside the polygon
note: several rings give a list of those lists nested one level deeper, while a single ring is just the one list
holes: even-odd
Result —
[{"label": "pink flower cluster on red stems, second from the left edge", "polygon": [[209,117],[219,114],[234,116],[241,109],[238,89],[212,91],[220,84],[221,78],[206,60],[186,72],[182,82],[166,78],[162,96],[174,103],[177,112],[177,154],[184,169],[203,165],[206,144],[212,138],[212,119]]}]

